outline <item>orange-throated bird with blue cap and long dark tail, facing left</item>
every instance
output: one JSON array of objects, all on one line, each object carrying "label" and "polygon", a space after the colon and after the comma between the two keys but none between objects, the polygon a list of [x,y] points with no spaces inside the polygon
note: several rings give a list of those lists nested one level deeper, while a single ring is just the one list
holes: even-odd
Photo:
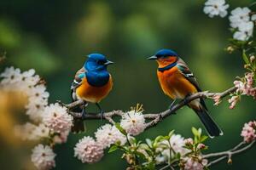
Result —
[{"label": "orange-throated bird with blue cap and long dark tail, facing left", "polygon": [[[188,65],[172,49],[160,49],[148,59],[158,63],[157,77],[164,94],[172,99],[170,110],[177,99],[186,99],[189,95],[201,92],[201,88]],[[207,130],[211,138],[223,135],[222,130],[212,120],[203,99],[195,99],[187,104]]]}]

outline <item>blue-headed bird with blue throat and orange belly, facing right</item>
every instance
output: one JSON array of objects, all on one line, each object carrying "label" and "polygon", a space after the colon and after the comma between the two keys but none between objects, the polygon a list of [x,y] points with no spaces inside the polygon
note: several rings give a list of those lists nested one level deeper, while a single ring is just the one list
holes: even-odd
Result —
[{"label": "blue-headed bird with blue throat and orange belly, facing right", "polygon": [[[113,79],[108,72],[108,65],[112,65],[113,62],[103,54],[88,54],[87,57],[83,67],[76,72],[71,85],[73,101],[84,101],[84,105],[77,108],[82,112],[82,119],[86,115],[85,107],[88,102],[96,104],[101,116],[103,115],[104,111],[99,103],[108,96],[113,87]],[[73,132],[84,132],[82,119],[74,119]]]}]

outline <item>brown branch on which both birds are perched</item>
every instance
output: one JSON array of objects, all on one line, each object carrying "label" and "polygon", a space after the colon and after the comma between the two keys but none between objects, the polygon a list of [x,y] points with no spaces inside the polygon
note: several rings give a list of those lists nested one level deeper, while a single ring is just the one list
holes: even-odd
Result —
[{"label": "brown branch on which both birds are perched", "polygon": [[[189,102],[193,101],[194,99],[199,99],[199,98],[212,98],[215,95],[219,95],[220,98],[224,98],[225,96],[232,94],[233,92],[236,91],[235,87],[229,88],[225,90],[222,93],[209,93],[208,91],[205,92],[199,92],[196,94],[192,94],[186,99],[181,100],[179,103],[176,105],[173,105],[171,109],[168,109],[166,111],[162,111],[160,113],[153,113],[153,114],[144,114],[144,118],[151,120],[146,124],[146,128],[154,127],[156,126],[159,122],[161,122],[164,118],[167,116],[171,116],[172,114],[175,114],[175,111],[181,109],[184,105],[187,105]],[[57,101],[60,105],[63,105],[67,107],[68,113],[71,114],[75,118],[82,119],[82,114],[80,112],[74,112],[74,108],[78,108],[81,105],[84,105],[83,100],[78,100],[70,104],[63,104],[61,101]],[[113,117],[116,116],[122,116],[124,115],[124,111],[109,111],[105,112],[103,116],[99,113],[88,113],[86,114],[83,118],[84,120],[94,120],[94,119],[106,119],[108,122],[114,123]]]}]

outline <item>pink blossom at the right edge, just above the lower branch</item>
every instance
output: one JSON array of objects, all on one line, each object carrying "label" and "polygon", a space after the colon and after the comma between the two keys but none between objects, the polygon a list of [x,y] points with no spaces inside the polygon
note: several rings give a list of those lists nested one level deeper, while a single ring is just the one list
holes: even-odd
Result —
[{"label": "pink blossom at the right edge, just above the lower branch", "polygon": [[244,127],[242,127],[241,130],[241,137],[243,137],[243,140],[247,143],[252,142],[256,139],[256,121],[251,121],[244,124]]}]

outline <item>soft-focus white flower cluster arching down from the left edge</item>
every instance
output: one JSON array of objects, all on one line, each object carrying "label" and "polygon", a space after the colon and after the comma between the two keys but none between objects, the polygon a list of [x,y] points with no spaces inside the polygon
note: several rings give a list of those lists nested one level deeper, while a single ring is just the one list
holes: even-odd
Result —
[{"label": "soft-focus white flower cluster arching down from the left edge", "polygon": [[21,72],[13,66],[6,68],[0,75],[3,78],[0,86],[6,91],[15,91],[26,95],[28,103],[26,115],[34,122],[40,122],[44,107],[48,105],[49,93],[45,91],[44,84],[40,84],[40,77],[35,70]]}]

